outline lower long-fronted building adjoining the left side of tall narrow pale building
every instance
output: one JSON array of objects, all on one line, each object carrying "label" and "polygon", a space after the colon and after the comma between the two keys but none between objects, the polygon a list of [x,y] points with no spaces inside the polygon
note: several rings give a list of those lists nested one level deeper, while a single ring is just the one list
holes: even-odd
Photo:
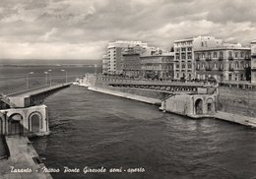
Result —
[{"label": "lower long-fronted building adjoining the left side of tall narrow pale building", "polygon": [[141,56],[141,74],[146,79],[173,79],[174,53]]}]

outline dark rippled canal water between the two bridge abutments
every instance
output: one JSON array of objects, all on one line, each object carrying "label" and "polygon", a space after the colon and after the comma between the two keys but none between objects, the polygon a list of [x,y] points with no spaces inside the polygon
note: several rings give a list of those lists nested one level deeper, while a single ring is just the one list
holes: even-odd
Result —
[{"label": "dark rippled canal water between the two bridge abutments", "polygon": [[[53,178],[247,179],[256,177],[256,131],[213,119],[192,120],[157,106],[82,87],[46,98],[51,135],[33,139]],[[80,173],[63,173],[63,168]],[[83,168],[121,173],[83,173]],[[128,173],[129,168],[144,172]]]}]

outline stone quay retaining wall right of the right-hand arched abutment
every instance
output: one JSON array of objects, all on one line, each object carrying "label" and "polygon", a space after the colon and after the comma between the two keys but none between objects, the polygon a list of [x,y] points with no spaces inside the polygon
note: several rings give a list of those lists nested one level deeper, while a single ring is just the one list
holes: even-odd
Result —
[{"label": "stone quay retaining wall right of the right-hand arched abutment", "polygon": [[220,87],[218,110],[256,117],[256,90]]}]

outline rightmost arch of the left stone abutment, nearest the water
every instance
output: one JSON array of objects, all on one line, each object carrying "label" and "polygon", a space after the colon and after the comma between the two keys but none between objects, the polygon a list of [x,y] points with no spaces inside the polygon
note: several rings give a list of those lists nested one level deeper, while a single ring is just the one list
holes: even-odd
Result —
[{"label": "rightmost arch of the left stone abutment, nearest the water", "polygon": [[32,112],[32,114],[29,116],[29,126],[30,131],[32,133],[37,133],[40,131],[42,126],[42,117],[39,112]]}]

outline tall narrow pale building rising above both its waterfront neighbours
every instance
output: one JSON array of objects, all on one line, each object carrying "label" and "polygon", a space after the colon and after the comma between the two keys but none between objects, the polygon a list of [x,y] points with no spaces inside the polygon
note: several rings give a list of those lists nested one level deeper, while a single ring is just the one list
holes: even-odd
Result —
[{"label": "tall narrow pale building rising above both its waterfront neighbours", "polygon": [[194,50],[202,47],[218,47],[223,40],[214,36],[197,36],[174,41],[174,79],[195,79]]}]

